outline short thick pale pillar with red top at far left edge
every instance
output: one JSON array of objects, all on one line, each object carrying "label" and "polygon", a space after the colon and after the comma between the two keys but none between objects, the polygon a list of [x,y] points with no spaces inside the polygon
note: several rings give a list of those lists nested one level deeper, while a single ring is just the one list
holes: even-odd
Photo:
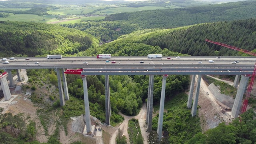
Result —
[{"label": "short thick pale pillar with red top at far left edge", "polygon": [[1,82],[1,85],[2,85],[2,90],[3,90],[3,93],[4,93],[4,100],[5,101],[10,100],[11,97],[12,97],[9,86],[8,86],[8,82],[7,82],[7,79],[6,79],[7,75],[8,75],[7,72],[4,72],[0,75],[0,82]]}]

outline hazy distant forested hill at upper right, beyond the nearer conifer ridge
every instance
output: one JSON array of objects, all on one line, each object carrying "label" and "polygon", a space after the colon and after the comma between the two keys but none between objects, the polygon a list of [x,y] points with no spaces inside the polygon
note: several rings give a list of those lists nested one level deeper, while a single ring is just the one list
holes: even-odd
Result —
[{"label": "hazy distant forested hill at upper right, beyond the nearer conifer ridge", "polygon": [[190,8],[111,14],[105,20],[138,24],[141,28],[145,29],[176,28],[205,22],[232,21],[248,18],[256,18],[256,0]]}]

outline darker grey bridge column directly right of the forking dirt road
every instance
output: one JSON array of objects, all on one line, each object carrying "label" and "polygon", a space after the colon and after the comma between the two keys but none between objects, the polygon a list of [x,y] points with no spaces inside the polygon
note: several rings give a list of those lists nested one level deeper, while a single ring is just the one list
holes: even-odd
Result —
[{"label": "darker grey bridge column directly right of the forking dirt road", "polygon": [[152,114],[153,114],[153,90],[154,90],[154,75],[149,75],[148,87],[148,106],[147,106],[147,131],[152,131]]}]

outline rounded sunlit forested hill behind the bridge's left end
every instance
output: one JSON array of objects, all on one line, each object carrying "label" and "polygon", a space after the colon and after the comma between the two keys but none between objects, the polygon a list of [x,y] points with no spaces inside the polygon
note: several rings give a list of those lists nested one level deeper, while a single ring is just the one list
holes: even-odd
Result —
[{"label": "rounded sunlit forested hill behind the bridge's left end", "polygon": [[80,30],[53,24],[0,21],[0,57],[75,54],[98,46]]}]

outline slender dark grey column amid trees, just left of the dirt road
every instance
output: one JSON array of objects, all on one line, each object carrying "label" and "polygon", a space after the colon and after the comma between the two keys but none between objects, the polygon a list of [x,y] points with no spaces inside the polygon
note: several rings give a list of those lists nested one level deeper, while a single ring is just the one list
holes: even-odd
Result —
[{"label": "slender dark grey column amid trees, just left of the dirt road", "polygon": [[109,90],[109,76],[105,76],[105,108],[106,108],[106,124],[110,125],[110,90]]}]

